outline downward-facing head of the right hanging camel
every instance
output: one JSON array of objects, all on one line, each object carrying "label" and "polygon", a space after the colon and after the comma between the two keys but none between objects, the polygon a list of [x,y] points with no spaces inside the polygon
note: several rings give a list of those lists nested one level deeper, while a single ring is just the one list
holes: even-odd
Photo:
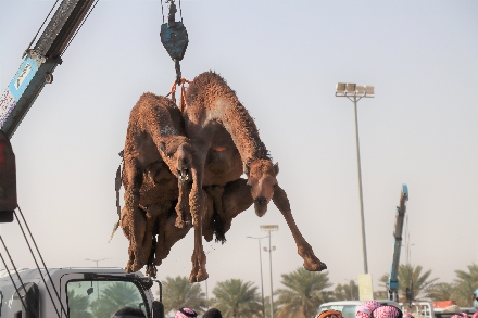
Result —
[{"label": "downward-facing head of the right hanging camel", "polygon": [[244,165],[244,174],[248,176],[248,186],[251,187],[254,200],[255,214],[263,216],[267,212],[267,204],[274,196],[274,188],[277,186],[279,164],[268,160],[254,160],[249,166]]}]

